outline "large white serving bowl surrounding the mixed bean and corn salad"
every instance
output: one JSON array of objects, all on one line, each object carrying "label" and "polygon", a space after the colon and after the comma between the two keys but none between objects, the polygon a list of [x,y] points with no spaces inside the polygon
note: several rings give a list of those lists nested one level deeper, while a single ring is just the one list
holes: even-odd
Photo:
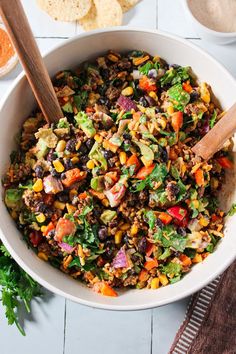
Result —
[{"label": "large white serving bowl surrounding the mixed bean and corn salad", "polygon": [[[236,98],[234,78],[210,55],[190,42],[157,31],[114,28],[82,34],[58,46],[45,56],[45,64],[51,76],[61,69],[74,68],[84,60],[97,57],[108,49],[128,51],[142,49],[158,54],[168,63],[190,65],[199,80],[208,82],[223,108],[228,108]],[[7,92],[0,106],[0,173],[4,175],[9,155],[14,148],[14,136],[22,122],[35,107],[35,100],[26,77],[21,74]],[[236,119],[236,117],[235,117]],[[227,183],[230,194],[223,204],[235,198],[235,178]],[[1,187],[2,188],[2,187]],[[3,195],[3,190],[1,189]],[[48,263],[40,260],[27,248],[21,233],[1,201],[0,237],[14,259],[40,284],[54,293],[81,304],[112,310],[139,310],[152,308],[182,299],[213,280],[232,263],[236,255],[235,216],[226,222],[225,237],[216,251],[193,269],[178,283],[158,290],[126,290],[117,298],[103,297],[88,289]]]}]

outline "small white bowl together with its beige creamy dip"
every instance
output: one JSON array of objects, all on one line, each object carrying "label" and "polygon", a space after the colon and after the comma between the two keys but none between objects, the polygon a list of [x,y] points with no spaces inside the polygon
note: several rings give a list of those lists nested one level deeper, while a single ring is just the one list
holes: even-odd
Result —
[{"label": "small white bowl together with its beige creamy dip", "polygon": [[215,44],[236,41],[236,0],[184,0],[198,35]]}]

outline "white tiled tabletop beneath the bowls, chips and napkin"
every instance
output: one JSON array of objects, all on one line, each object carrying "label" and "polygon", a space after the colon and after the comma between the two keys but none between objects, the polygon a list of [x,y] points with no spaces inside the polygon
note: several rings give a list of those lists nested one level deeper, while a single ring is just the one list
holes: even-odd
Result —
[{"label": "white tiled tabletop beneath the bowls, chips and napkin", "polygon": [[[42,53],[82,32],[74,23],[51,20],[35,0],[22,1]],[[200,40],[184,16],[181,1],[142,0],[125,15],[124,25],[157,28],[188,38],[236,76],[236,44],[219,47]],[[0,80],[0,98],[20,71],[18,65]],[[0,307],[1,354],[167,354],[189,301],[147,311],[112,312],[45,293],[43,299],[33,302],[32,315],[22,314],[26,337],[7,325]]]}]

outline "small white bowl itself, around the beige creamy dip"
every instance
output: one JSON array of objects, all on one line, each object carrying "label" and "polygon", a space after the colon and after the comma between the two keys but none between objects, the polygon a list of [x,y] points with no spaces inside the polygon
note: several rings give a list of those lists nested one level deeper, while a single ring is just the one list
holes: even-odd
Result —
[{"label": "small white bowl itself, around the beige creamy dip", "polygon": [[182,2],[186,15],[190,18],[191,23],[200,38],[215,43],[215,44],[229,44],[236,41],[236,32],[218,32],[211,28],[204,26],[194,16],[188,0]]}]

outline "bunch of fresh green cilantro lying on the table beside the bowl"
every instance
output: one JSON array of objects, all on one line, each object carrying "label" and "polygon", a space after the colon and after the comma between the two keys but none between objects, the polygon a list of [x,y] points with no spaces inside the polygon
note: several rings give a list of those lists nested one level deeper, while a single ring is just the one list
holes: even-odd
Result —
[{"label": "bunch of fresh green cilantro lying on the table beside the bowl", "polygon": [[3,245],[0,246],[0,286],[8,324],[15,324],[25,335],[19,322],[18,308],[24,306],[30,312],[31,300],[41,295],[40,286],[18,266]]}]

